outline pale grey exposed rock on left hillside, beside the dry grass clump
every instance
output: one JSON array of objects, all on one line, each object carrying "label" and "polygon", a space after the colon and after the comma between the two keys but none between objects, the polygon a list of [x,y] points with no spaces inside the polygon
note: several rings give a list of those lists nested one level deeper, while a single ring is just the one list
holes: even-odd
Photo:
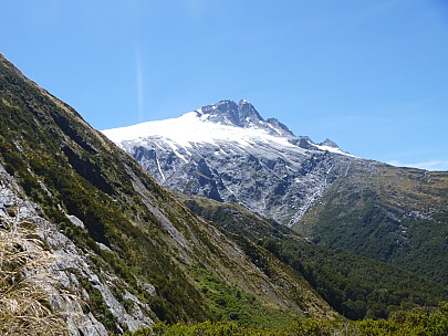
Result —
[{"label": "pale grey exposed rock on left hillside, beside the dry grass clump", "polygon": [[[77,227],[84,229],[80,219],[66,216]],[[42,276],[45,276],[42,285],[53,309],[65,316],[72,335],[108,335],[92,312],[85,313],[83,302],[88,300],[88,293],[82,280],[88,281],[101,293],[104,303],[121,326],[136,330],[153,324],[149,317],[150,308],[128,292],[125,292],[125,296],[127,302],[131,302],[132,309],[128,309],[131,313],[126,311],[110,288],[111,284],[116,284],[118,280],[107,273],[98,276],[90,265],[88,256],[60,232],[55,224],[42,217],[42,209],[28,200],[14,178],[0,165],[0,223],[6,227],[21,225],[24,222],[34,227],[35,234],[54,256],[50,270],[42,270]],[[48,271],[50,275],[44,274]],[[146,286],[150,287],[150,284]]]}]

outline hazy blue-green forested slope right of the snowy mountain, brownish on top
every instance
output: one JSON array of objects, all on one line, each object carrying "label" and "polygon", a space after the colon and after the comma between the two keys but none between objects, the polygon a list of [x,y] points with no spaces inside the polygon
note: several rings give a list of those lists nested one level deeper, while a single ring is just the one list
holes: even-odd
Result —
[{"label": "hazy blue-green forested slope right of the snowy mountain, brownish on top", "polygon": [[294,227],[344,249],[448,284],[448,172],[358,161]]}]

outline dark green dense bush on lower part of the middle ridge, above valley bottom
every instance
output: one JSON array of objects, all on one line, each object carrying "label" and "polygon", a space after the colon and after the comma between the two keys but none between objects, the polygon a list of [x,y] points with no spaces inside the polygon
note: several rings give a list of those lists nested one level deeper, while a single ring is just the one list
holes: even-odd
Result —
[{"label": "dark green dense bush on lower part of the middle ridge, above valley bottom", "polygon": [[267,239],[260,242],[299,271],[338,313],[351,319],[386,318],[394,311],[437,305],[444,286],[353,253]]}]

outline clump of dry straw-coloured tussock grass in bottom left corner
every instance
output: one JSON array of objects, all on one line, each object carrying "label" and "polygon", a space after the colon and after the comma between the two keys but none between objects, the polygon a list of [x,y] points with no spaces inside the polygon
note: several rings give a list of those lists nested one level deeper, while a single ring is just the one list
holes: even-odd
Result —
[{"label": "clump of dry straw-coloured tussock grass in bottom left corner", "polygon": [[66,335],[63,316],[45,292],[53,254],[32,231],[2,221],[0,227],[0,335]]}]

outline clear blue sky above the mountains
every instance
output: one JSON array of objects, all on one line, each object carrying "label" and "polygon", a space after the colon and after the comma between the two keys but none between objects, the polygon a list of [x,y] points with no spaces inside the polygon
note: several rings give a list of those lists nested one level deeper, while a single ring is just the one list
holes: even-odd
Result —
[{"label": "clear blue sky above the mountains", "polygon": [[447,0],[0,0],[0,52],[95,128],[251,102],[296,135],[448,170]]}]

